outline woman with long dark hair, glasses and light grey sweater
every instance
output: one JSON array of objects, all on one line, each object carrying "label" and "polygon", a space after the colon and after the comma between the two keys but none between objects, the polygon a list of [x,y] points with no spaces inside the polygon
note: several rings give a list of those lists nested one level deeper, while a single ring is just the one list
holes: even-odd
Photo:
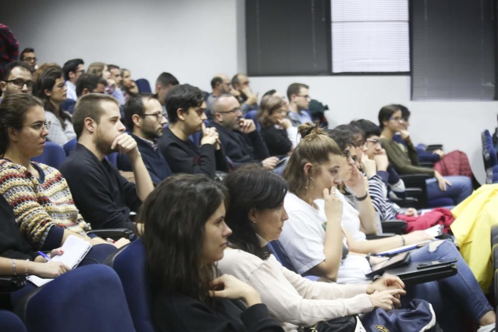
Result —
[{"label": "woman with long dark hair, glasses and light grey sweater", "polygon": [[51,123],[47,128],[47,139],[59,145],[76,137],[71,115],[61,108],[67,91],[63,75],[61,70],[50,67],[41,73],[36,82],[36,93],[44,101],[46,120]]}]

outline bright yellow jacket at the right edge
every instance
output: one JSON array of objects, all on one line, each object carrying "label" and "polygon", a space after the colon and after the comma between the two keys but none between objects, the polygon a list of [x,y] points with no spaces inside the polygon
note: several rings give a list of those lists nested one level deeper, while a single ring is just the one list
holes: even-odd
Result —
[{"label": "bright yellow jacket at the right edge", "polygon": [[451,213],[455,221],[450,228],[460,245],[460,253],[487,293],[494,274],[491,227],[498,223],[498,184],[481,186]]}]

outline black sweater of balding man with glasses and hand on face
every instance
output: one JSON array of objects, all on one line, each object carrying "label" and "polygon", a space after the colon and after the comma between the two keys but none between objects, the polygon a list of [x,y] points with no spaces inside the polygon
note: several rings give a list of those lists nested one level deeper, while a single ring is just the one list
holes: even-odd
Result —
[{"label": "black sweater of balding man with glasses and hand on face", "polygon": [[269,157],[268,148],[257,130],[245,134],[238,130],[228,130],[214,121],[211,123],[218,130],[223,152],[234,167],[256,161],[261,164],[261,160]]}]

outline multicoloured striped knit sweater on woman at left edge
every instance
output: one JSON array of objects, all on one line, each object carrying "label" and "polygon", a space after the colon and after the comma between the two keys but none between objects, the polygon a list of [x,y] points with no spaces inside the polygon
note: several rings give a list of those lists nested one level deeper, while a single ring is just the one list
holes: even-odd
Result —
[{"label": "multicoloured striped knit sweater on woman at left edge", "polygon": [[0,160],[0,194],[14,211],[22,235],[39,249],[51,227],[68,228],[80,235],[91,230],[74,205],[66,180],[55,168],[38,164],[38,179],[26,167]]}]

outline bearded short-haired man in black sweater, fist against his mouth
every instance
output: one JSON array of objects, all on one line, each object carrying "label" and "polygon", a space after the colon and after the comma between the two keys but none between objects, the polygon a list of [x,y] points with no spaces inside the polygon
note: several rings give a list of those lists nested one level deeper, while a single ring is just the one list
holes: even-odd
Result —
[{"label": "bearded short-haired man in black sweater, fist against his mouth", "polygon": [[[105,94],[81,97],[73,113],[73,126],[78,145],[60,171],[78,210],[93,228],[134,229],[129,213],[138,211],[154,186],[136,141],[124,132],[118,101]],[[135,184],[107,161],[105,156],[112,152],[127,155]]]}]

